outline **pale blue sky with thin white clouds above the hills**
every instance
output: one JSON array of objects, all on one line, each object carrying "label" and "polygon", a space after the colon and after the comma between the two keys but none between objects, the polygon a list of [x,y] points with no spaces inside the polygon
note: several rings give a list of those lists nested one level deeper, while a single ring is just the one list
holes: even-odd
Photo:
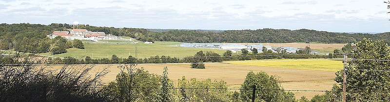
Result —
[{"label": "pale blue sky with thin white clouds above the hills", "polygon": [[389,32],[385,0],[0,0],[0,23]]}]

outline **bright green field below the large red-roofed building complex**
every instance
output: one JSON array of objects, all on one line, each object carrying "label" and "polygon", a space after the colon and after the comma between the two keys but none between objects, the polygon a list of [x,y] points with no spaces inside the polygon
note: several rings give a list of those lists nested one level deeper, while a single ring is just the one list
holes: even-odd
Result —
[{"label": "bright green field below the large red-roofed building complex", "polygon": [[[214,51],[218,54],[223,54],[225,50],[207,49],[207,48],[186,48],[172,46],[179,42],[157,42],[153,44],[138,44],[133,41],[108,41],[99,40],[99,42],[83,41],[85,49],[69,48],[64,54],[54,55],[55,57],[76,57],[83,58],[89,56],[91,58],[111,58],[112,55],[117,55],[119,58],[127,58],[129,54],[138,58],[149,58],[155,56],[170,56],[170,57],[187,57],[194,56],[198,51]],[[87,42],[87,43],[86,43]],[[42,53],[42,55],[51,55],[50,53]]]}]

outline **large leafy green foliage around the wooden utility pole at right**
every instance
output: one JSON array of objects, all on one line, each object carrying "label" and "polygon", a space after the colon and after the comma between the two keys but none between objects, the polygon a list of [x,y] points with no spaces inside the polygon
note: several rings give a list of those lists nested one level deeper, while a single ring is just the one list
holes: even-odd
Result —
[{"label": "large leafy green foliage around the wooden utility pole at right", "polygon": [[[390,48],[384,41],[363,39],[352,51],[347,73],[347,102],[390,101]],[[331,91],[312,100],[318,102],[342,101],[343,70],[336,72]]]}]

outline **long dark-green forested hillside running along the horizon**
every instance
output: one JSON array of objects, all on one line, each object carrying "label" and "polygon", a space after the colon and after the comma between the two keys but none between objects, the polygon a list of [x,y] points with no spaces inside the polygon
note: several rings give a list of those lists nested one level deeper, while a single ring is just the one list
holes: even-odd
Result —
[{"label": "long dark-green forested hillside running along the horizon", "polygon": [[[390,33],[380,34],[349,34],[316,31],[308,29],[257,29],[257,30],[226,30],[214,32],[208,30],[167,30],[155,32],[143,28],[114,28],[86,25],[72,26],[70,24],[52,23],[42,24],[0,24],[1,49],[9,49],[19,40],[39,42],[47,39],[46,35],[53,31],[69,31],[71,28],[87,29],[90,31],[105,32],[116,36],[127,36],[139,41],[178,41],[178,42],[320,42],[320,43],[347,43],[360,41],[363,38],[385,40],[389,43]],[[162,30],[163,31],[163,30]],[[43,40],[44,41],[44,40]]]}]

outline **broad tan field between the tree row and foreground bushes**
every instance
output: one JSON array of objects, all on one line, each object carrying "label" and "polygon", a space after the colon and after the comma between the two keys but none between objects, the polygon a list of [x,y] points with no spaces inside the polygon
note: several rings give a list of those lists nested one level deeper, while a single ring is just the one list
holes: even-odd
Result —
[{"label": "broad tan field between the tree row and foreground bushes", "polygon": [[[268,60],[266,60],[268,61]],[[288,60],[286,60],[287,62]],[[328,63],[323,63],[323,61],[334,62],[332,64],[341,63],[341,61],[329,61],[329,60],[312,60],[312,62],[320,63],[323,65],[328,65]],[[240,61],[238,61],[240,62]],[[268,61],[269,62],[269,61]],[[300,64],[294,64],[296,67],[308,67],[306,61],[294,61],[295,63],[300,62]],[[233,62],[231,62],[233,63]],[[206,63],[206,69],[191,69],[190,64],[138,64],[137,67],[143,67],[145,70],[150,73],[155,73],[162,75],[163,67],[168,67],[169,78],[173,81],[185,76],[187,79],[196,78],[196,79],[212,79],[212,80],[223,80],[227,82],[228,87],[230,88],[239,88],[245,80],[245,76],[249,71],[259,72],[264,71],[269,75],[276,75],[281,81],[281,85],[284,89],[288,90],[330,90],[332,85],[335,83],[333,80],[335,78],[333,71],[321,71],[313,70],[312,68],[306,69],[294,69],[294,68],[283,68],[283,65],[274,65],[270,66],[256,66],[256,65],[242,65],[242,64],[231,64],[231,63]],[[248,62],[252,63],[252,62]],[[281,64],[281,63],[273,63]],[[307,63],[311,64],[311,63]],[[60,66],[52,66],[54,69],[59,68]],[[109,73],[102,78],[103,82],[111,82],[116,79],[116,75],[119,73],[117,64],[98,64],[95,66],[91,74],[101,71],[104,67],[108,67]],[[337,66],[333,66],[337,67]],[[341,67],[338,67],[341,68]],[[334,69],[334,68],[329,68]],[[323,94],[323,92],[293,92],[296,98],[306,96],[308,99],[311,99],[316,94]]]}]

